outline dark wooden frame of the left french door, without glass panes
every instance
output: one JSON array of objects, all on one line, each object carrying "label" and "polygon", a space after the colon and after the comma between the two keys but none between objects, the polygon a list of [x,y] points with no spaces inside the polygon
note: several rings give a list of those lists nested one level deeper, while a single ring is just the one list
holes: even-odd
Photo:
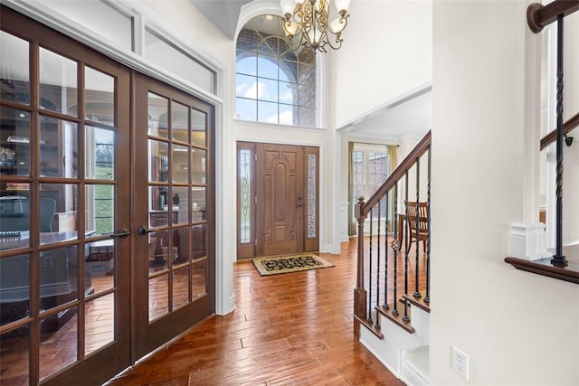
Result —
[{"label": "dark wooden frame of the left french door, without glass panes", "polygon": [[[39,228],[36,225],[37,220],[35,220],[34,213],[37,212],[38,207],[38,197],[40,195],[41,188],[43,184],[54,184],[59,185],[67,184],[77,190],[78,199],[76,202],[76,222],[77,228],[74,231],[76,235],[71,240],[64,240],[62,243],[58,244],[60,249],[66,249],[74,251],[76,253],[71,253],[67,255],[67,260],[70,261],[69,264],[75,264],[76,268],[76,278],[73,279],[76,284],[76,294],[74,298],[63,304],[60,307],[55,307],[54,311],[58,311],[62,308],[62,312],[74,311],[74,318],[66,321],[66,325],[73,326],[73,331],[76,331],[74,339],[72,342],[76,344],[75,348],[72,348],[73,355],[76,358],[71,359],[71,364],[62,367],[58,372],[54,372],[45,378],[43,378],[43,384],[46,385],[62,385],[62,384],[75,384],[79,380],[83,380],[87,384],[102,382],[103,380],[109,379],[111,374],[119,372],[120,370],[126,368],[130,364],[130,280],[126,279],[130,277],[129,271],[129,257],[130,257],[130,242],[129,239],[116,239],[114,242],[114,285],[109,289],[105,290],[104,293],[94,294],[90,292],[89,281],[85,278],[85,275],[89,275],[88,263],[85,261],[86,250],[90,249],[90,243],[96,240],[110,240],[108,236],[100,235],[97,237],[91,236],[86,232],[86,202],[85,202],[85,188],[88,186],[98,186],[99,184],[107,184],[107,186],[113,187],[114,190],[114,223],[115,227],[128,227],[130,223],[130,185],[129,181],[129,166],[130,148],[129,143],[129,90],[130,90],[130,76],[129,71],[126,67],[120,65],[116,61],[112,61],[109,58],[101,55],[98,52],[87,50],[86,47],[82,46],[78,42],[63,36],[61,33],[57,33],[50,28],[38,24],[23,14],[14,12],[13,10],[0,5],[0,15],[1,21],[0,26],[5,33],[10,33],[17,36],[24,41],[29,42],[30,45],[30,103],[26,105],[14,104],[11,102],[10,97],[3,99],[3,107],[5,108],[18,108],[20,110],[26,110],[31,115],[31,165],[30,173],[28,176],[24,176],[23,181],[30,184],[30,199],[32,201],[32,221],[30,222],[30,242],[28,249],[23,249],[24,253],[28,253],[31,256],[30,264],[30,315],[27,318],[21,319],[16,322],[18,325],[23,325],[27,328],[29,334],[29,346],[30,353],[28,355],[29,371],[28,371],[28,381],[30,384],[37,384],[40,380],[41,374],[39,372],[40,364],[43,362],[43,357],[41,355],[40,346],[41,342],[41,322],[45,315],[49,317],[52,315],[52,311],[40,310],[40,297],[41,292],[41,270],[47,266],[41,266],[40,263],[36,263],[39,260],[43,260],[43,253],[51,252],[52,250],[59,249],[47,249],[46,245],[39,242]],[[68,58],[71,62],[76,63],[76,68],[78,71],[78,86],[79,96],[78,96],[78,114],[59,112],[59,111],[47,111],[39,107],[39,66],[41,65],[39,59],[39,50],[43,49],[46,52],[53,52],[62,58]],[[3,55],[8,54],[8,52],[3,52]],[[84,71],[86,69],[95,69],[101,73],[107,74],[114,78],[114,93],[115,93],[115,108],[114,116],[115,122],[112,126],[100,125],[98,122],[91,122],[89,118],[85,118],[84,113]],[[76,101],[74,102],[77,103]],[[68,108],[68,106],[66,107]],[[35,131],[39,131],[41,127],[41,119],[44,121],[46,119],[54,119],[61,122],[59,125],[63,125],[62,122],[68,122],[70,125],[77,127],[76,133],[78,137],[76,138],[76,144],[73,146],[78,146],[78,172],[77,176],[55,176],[48,177],[40,174],[39,165],[43,161],[42,154],[40,152],[42,144],[41,139]],[[103,129],[109,130],[115,133],[115,145],[117,149],[123,149],[118,151],[115,158],[115,169],[113,180],[110,181],[98,181],[94,177],[86,176],[84,160],[86,157],[84,147],[85,146],[85,132],[87,127],[102,127]],[[65,162],[64,156],[61,155],[62,160],[54,159],[56,163]],[[62,199],[62,197],[59,197]],[[58,200],[57,200],[58,202]],[[117,228],[117,229],[118,229]],[[11,250],[3,250],[2,255],[9,257],[12,253]],[[84,252],[84,253],[83,253]],[[2,256],[0,256],[1,258]],[[49,262],[49,264],[51,264]],[[87,280],[87,281],[85,281]],[[81,283],[84,283],[83,285]],[[87,327],[87,321],[85,320],[85,313],[89,307],[90,302],[95,299],[102,297],[113,297],[114,298],[114,332],[112,334],[114,337],[105,346],[101,347],[94,353],[90,355],[85,354],[86,345],[86,335],[85,329]],[[59,315],[61,313],[59,312]],[[54,316],[54,315],[52,315]],[[3,325],[5,327],[5,325]],[[64,326],[60,327],[61,329]],[[5,355],[5,353],[3,353]],[[50,373],[50,372],[49,372]]]}]

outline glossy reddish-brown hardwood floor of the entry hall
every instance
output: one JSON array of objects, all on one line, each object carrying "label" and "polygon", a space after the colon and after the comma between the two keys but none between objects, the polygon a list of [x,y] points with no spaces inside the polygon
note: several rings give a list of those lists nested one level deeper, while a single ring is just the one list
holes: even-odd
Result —
[{"label": "glossy reddish-brown hardwood floor of the entry hall", "polygon": [[119,385],[403,385],[353,335],[356,240],[335,264],[260,277],[234,271],[236,310],[213,315],[106,383]]}]

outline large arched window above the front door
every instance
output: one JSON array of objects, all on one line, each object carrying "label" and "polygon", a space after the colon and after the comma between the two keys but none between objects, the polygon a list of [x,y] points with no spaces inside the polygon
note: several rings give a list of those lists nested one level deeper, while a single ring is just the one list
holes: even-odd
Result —
[{"label": "large arched window above the front door", "polygon": [[254,17],[237,37],[236,118],[316,127],[316,57],[290,47],[280,16]]}]

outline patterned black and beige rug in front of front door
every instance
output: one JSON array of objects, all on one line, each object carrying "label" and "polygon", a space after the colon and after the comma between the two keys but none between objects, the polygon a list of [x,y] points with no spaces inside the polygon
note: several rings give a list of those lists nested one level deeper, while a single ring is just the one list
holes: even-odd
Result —
[{"label": "patterned black and beige rug in front of front door", "polygon": [[334,264],[328,263],[325,259],[312,253],[257,258],[252,259],[252,261],[261,276],[334,267]]}]

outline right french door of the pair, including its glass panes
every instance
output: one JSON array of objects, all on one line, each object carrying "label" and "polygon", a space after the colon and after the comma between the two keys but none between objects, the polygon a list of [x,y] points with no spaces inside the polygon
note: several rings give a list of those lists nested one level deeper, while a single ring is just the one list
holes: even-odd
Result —
[{"label": "right french door of the pair, including its glass panes", "polygon": [[136,357],[214,313],[214,108],[137,74]]}]

